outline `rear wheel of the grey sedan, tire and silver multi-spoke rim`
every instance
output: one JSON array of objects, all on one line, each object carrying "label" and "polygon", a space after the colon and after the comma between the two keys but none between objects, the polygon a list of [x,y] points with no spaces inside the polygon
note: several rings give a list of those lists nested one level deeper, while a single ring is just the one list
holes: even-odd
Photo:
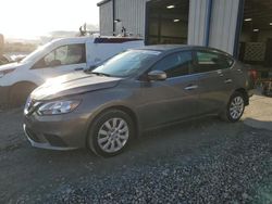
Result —
[{"label": "rear wheel of the grey sedan, tire and silver multi-spoke rim", "polygon": [[230,123],[238,122],[244,114],[245,104],[245,95],[240,92],[234,92],[221,118]]}]

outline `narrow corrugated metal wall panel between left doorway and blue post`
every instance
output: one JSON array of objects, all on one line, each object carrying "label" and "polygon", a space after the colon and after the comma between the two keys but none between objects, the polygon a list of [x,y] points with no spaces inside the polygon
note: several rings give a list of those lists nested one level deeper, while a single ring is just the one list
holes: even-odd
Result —
[{"label": "narrow corrugated metal wall panel between left doorway and blue post", "polygon": [[188,44],[203,46],[206,20],[208,17],[208,0],[190,0]]}]

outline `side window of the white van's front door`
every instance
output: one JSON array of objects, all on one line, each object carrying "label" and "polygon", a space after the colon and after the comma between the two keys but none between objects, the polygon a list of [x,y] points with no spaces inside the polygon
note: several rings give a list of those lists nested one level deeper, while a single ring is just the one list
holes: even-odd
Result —
[{"label": "side window of the white van's front door", "polygon": [[51,51],[35,67],[54,67],[81,63],[86,63],[85,44],[67,44]]}]

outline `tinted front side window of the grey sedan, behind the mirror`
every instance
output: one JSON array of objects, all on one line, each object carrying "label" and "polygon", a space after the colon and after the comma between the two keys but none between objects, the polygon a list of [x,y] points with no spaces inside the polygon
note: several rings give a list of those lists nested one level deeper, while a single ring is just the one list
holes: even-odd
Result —
[{"label": "tinted front side window of the grey sedan, behind the mirror", "polygon": [[191,66],[191,52],[178,52],[164,58],[152,69],[163,71],[166,73],[168,78],[172,78],[189,74]]}]

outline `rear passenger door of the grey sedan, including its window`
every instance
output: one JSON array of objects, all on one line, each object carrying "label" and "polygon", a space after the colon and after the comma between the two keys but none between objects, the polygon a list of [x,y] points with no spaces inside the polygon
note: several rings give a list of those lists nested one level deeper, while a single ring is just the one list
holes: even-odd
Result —
[{"label": "rear passenger door of the grey sedan, including its window", "polygon": [[199,114],[214,113],[226,105],[234,89],[231,67],[233,59],[218,52],[195,52],[199,85]]}]

